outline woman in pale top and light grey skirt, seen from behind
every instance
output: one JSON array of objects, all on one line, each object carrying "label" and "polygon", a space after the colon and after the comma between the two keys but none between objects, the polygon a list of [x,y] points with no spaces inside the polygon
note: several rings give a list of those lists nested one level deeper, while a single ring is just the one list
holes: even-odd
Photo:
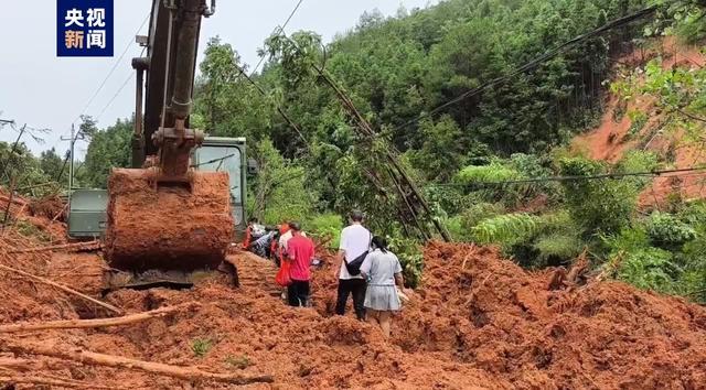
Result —
[{"label": "woman in pale top and light grey skirt, seen from behind", "polygon": [[379,236],[373,237],[372,251],[361,266],[361,274],[367,279],[365,308],[367,321],[383,329],[389,338],[393,312],[399,311],[402,303],[397,288],[404,289],[402,264],[395,253],[387,250],[387,241]]}]

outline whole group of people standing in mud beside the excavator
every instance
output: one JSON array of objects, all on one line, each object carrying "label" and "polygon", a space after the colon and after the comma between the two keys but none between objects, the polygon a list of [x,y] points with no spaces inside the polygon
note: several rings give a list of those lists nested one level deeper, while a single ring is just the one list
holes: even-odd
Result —
[{"label": "whole group of people standing in mud beside the excavator", "polygon": [[[288,267],[287,301],[291,306],[308,306],[315,251],[313,241],[296,221],[269,229],[257,239],[252,237],[256,229],[259,226],[248,224],[247,248],[260,256],[274,256],[278,266]],[[263,248],[267,248],[267,253]],[[392,313],[402,308],[398,290],[404,289],[402,271],[399,259],[387,249],[385,238],[373,236],[363,226],[361,212],[351,213],[350,225],[341,231],[333,264],[333,277],[338,279],[335,314],[345,314],[349,296],[352,296],[356,317],[379,326],[384,336],[389,337]]]}]

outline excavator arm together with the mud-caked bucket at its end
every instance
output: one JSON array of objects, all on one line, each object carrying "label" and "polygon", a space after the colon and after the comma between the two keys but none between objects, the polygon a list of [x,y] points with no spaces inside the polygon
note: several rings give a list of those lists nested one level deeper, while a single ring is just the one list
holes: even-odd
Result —
[{"label": "excavator arm together with the mud-caked bucket at its end", "polygon": [[199,32],[214,7],[152,1],[148,55],[132,62],[132,169],[114,169],[108,178],[106,258],[118,270],[214,269],[233,240],[228,174],[190,166],[204,139],[189,127]]}]

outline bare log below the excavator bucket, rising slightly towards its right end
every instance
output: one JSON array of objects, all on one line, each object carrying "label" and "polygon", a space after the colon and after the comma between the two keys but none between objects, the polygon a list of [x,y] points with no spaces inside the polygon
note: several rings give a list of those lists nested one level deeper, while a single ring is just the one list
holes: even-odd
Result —
[{"label": "bare log below the excavator bucket, rising slightly towards its right end", "polygon": [[[139,323],[139,322],[151,319],[151,318],[163,317],[174,312],[192,311],[195,307],[199,307],[199,304],[196,302],[190,302],[181,305],[165,306],[165,307],[160,307],[149,312],[130,314],[130,315],[126,315],[121,317],[113,317],[113,318],[63,319],[63,321],[49,321],[44,323],[0,325],[0,333],[122,326],[122,325]],[[2,364],[0,362],[0,366]]]}]

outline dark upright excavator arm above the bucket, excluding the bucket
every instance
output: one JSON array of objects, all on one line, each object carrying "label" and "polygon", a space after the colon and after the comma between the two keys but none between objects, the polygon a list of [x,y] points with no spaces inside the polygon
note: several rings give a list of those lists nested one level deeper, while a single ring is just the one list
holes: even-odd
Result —
[{"label": "dark upright excavator arm above the bucket, excluding the bucket", "polygon": [[[180,136],[181,140],[197,136],[195,131],[185,130],[192,106],[201,20],[214,12],[215,0],[210,7],[204,0],[152,0],[147,57],[132,59],[137,71],[132,167],[142,167],[148,155],[159,155],[163,171],[185,172],[183,155],[190,142],[171,148],[168,145],[171,142],[164,143],[164,140],[169,134]],[[199,138],[195,137],[196,141]],[[161,145],[165,147],[163,151]]]}]

